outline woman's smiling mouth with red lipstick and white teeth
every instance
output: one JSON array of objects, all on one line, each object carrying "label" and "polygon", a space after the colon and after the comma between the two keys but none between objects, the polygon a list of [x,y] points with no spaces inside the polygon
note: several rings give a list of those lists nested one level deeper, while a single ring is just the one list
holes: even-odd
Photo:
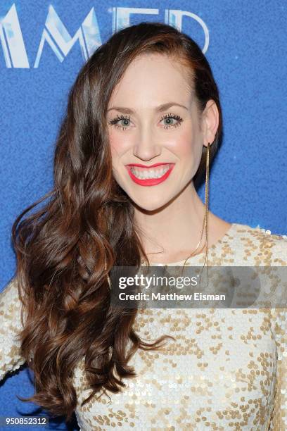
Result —
[{"label": "woman's smiling mouth with red lipstick and white teeth", "polygon": [[127,165],[129,176],[136,184],[151,186],[158,185],[170,176],[174,163],[158,163],[153,167],[143,167],[143,165]]}]

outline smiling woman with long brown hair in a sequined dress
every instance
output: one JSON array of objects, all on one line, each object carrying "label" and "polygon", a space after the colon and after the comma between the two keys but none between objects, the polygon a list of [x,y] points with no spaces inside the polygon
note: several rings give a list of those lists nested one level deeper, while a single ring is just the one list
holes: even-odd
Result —
[{"label": "smiling woman with long brown hair in a sequined dress", "polygon": [[284,237],[208,211],[221,132],[210,65],[174,27],[125,28],[79,72],[51,201],[15,220],[0,303],[1,375],[27,362],[29,400],[53,416],[75,411],[82,430],[285,429],[286,309],[109,307],[113,266],[286,266]]}]

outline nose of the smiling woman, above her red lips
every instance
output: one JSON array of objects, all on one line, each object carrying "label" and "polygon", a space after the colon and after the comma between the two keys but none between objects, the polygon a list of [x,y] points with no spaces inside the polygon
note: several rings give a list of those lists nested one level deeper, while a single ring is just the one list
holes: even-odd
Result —
[{"label": "nose of the smiling woman, above her red lips", "polygon": [[162,150],[158,141],[156,132],[151,130],[151,127],[148,127],[148,125],[141,127],[136,138],[136,144],[134,144],[134,156],[144,161],[149,161],[159,156]]}]

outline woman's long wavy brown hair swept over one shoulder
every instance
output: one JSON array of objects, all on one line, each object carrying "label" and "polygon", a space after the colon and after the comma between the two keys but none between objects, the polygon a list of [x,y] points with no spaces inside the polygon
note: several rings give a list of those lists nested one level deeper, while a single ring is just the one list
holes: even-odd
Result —
[{"label": "woman's long wavy brown hair swept over one shoulder", "polygon": [[[25,309],[18,338],[35,387],[34,396],[21,399],[65,416],[66,422],[77,407],[72,375],[81,358],[91,388],[83,405],[101,389],[120,392],[122,377],[136,376],[128,366],[136,350],[157,350],[170,337],[151,344],[141,340],[133,329],[137,310],[112,308],[108,284],[113,266],[139,268],[143,257],[148,263],[132,201],[113,177],[106,120],[113,89],[133,59],[146,53],[169,56],[187,68],[199,115],[209,99],[217,104],[211,164],[222,111],[207,59],[191,37],[170,25],[132,25],[114,33],[79,71],[56,139],[53,189],[12,227],[22,318]],[[205,173],[205,156],[204,146],[195,185]]]}]

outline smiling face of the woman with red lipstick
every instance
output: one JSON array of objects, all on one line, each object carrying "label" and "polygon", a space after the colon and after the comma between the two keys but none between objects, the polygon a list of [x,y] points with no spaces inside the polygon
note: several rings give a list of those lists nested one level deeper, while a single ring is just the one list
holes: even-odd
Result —
[{"label": "smiling face of the woman with red lipstick", "polygon": [[144,54],[129,65],[108,104],[113,175],[144,210],[177,196],[196,174],[203,144],[212,142],[200,131],[187,80],[172,59]]}]

